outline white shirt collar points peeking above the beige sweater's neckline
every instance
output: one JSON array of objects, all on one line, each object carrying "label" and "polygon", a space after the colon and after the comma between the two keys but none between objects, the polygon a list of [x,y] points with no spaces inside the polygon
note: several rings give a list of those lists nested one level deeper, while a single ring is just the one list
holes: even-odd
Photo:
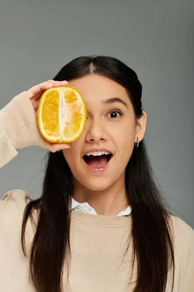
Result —
[{"label": "white shirt collar points peeking above the beige sweater's neckline", "polygon": [[[92,215],[97,215],[97,212],[88,203],[79,203],[72,198],[71,210],[85,212]],[[131,207],[128,206],[125,210],[117,214],[117,216],[127,216],[131,213]]]}]

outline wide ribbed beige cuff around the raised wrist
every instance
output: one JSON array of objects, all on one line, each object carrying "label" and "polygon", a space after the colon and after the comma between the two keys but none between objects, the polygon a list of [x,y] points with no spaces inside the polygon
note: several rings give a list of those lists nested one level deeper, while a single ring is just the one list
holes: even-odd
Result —
[{"label": "wide ribbed beige cuff around the raised wrist", "polygon": [[45,147],[45,139],[39,131],[37,117],[26,91],[12,99],[2,111],[7,135],[16,150],[28,146]]}]

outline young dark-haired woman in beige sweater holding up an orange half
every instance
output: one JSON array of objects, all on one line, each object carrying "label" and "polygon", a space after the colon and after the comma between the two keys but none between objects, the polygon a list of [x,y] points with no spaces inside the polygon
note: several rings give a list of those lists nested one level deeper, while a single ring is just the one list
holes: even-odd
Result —
[{"label": "young dark-haired woman in beige sweater holding up an orange half", "polygon": [[[46,89],[66,84],[81,92],[87,122],[77,141],[51,145],[36,110]],[[20,148],[49,150],[42,196],[13,190],[0,201],[0,291],[194,291],[194,231],[169,215],[154,182],[141,96],[121,61],[80,57],[0,111],[1,167]]]}]

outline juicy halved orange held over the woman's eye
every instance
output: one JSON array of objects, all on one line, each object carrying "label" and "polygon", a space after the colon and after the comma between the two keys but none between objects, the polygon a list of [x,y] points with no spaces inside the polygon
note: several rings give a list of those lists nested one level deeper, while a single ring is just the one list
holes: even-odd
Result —
[{"label": "juicy halved orange held over the woman's eye", "polygon": [[84,100],[74,87],[52,87],[40,98],[38,127],[43,137],[51,143],[77,140],[85,126],[86,117]]}]

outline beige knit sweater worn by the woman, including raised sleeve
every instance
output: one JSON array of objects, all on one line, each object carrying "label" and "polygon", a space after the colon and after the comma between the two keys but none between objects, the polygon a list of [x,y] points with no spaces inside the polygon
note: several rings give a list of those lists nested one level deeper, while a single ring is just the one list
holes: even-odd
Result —
[{"label": "beige knit sweater worn by the woman, including raised sleeve", "polygon": [[[0,167],[17,155],[16,149],[32,145],[44,146],[44,140],[31,102],[23,92],[0,111]],[[35,292],[28,283],[29,260],[24,258],[20,243],[26,198],[25,191],[14,190],[0,201],[0,292]],[[194,292],[194,231],[177,217],[172,217],[172,222],[176,265],[173,291]],[[72,211],[70,287],[65,292],[132,291],[132,286],[126,289],[129,261],[121,260],[130,228],[131,216]],[[29,242],[32,236],[28,224]]]}]

